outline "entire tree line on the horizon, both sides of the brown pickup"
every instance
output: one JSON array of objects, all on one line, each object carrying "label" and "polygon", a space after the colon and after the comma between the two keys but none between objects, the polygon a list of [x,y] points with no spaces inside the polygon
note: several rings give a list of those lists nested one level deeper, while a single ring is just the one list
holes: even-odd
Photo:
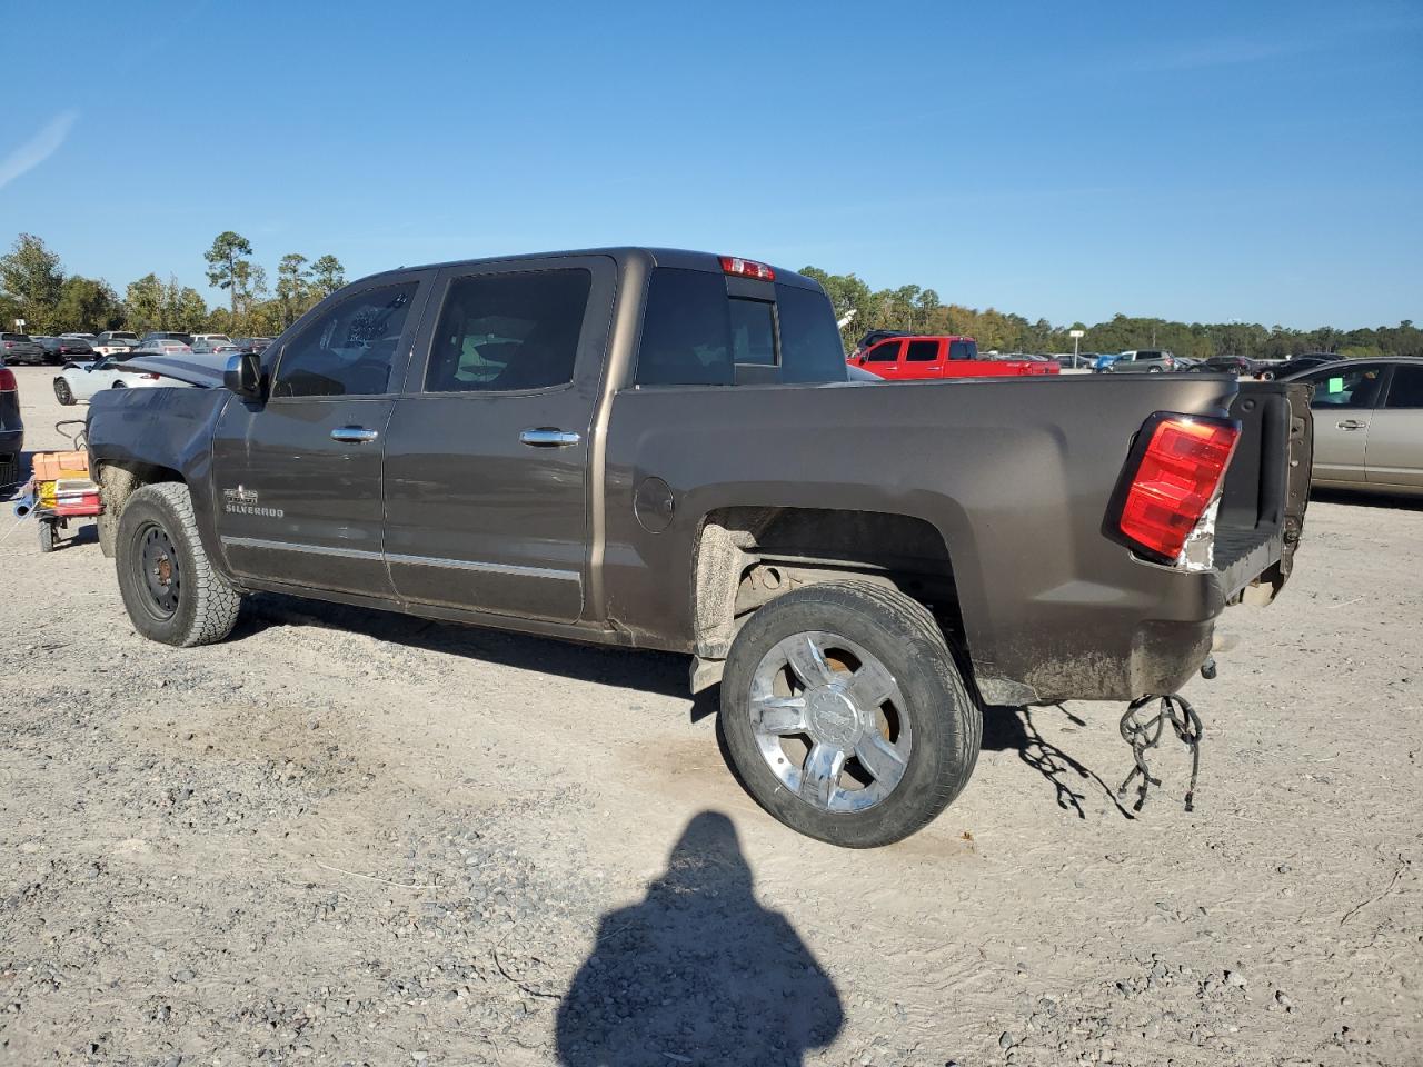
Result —
[{"label": "entire tree line on the horizon, both sides of the brown pickup", "polygon": [[[176,277],[148,273],[129,282],[120,296],[104,279],[64,270],[60,256],[33,233],[16,238],[0,256],[0,326],[26,320],[28,333],[98,333],[101,330],[188,330],[229,336],[277,334],[322,297],[346,285],[346,269],[333,255],[309,260],[289,252],[276,263],[276,282],[253,260],[252,242],[233,230],[213,238],[203,252],[208,283],[228,294],[228,306],[209,307],[202,293]],[[966,334],[983,350],[1072,351],[1069,330],[1084,330],[1081,351],[1170,349],[1177,356],[1249,356],[1272,359],[1301,351],[1340,356],[1420,356],[1423,330],[1405,319],[1397,326],[1338,330],[1294,330],[1259,323],[1181,323],[1116,314],[1086,326],[1054,326],[993,307],[979,310],[943,303],[933,289],[915,285],[871,289],[855,275],[831,275],[804,267],[830,294],[837,317],[854,312],[841,329],[847,349],[867,330],[909,330]]]}]

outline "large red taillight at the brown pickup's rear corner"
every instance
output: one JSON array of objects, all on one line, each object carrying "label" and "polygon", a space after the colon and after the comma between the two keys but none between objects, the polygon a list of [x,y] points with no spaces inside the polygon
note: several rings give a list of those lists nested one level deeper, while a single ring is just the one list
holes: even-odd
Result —
[{"label": "large red taillight at the brown pickup's rear corner", "polygon": [[1150,432],[1118,529],[1133,546],[1175,561],[1221,488],[1239,427],[1167,415]]}]

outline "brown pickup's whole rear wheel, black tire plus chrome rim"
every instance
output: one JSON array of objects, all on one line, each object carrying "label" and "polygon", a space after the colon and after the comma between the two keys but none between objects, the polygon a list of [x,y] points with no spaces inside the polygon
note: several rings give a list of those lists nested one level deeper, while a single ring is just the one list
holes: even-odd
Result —
[{"label": "brown pickup's whole rear wheel, black tire plus chrome rim", "polygon": [[869,582],[787,593],[741,627],[721,726],[751,797],[845,848],[909,837],[962,792],[983,717],[924,605]]}]

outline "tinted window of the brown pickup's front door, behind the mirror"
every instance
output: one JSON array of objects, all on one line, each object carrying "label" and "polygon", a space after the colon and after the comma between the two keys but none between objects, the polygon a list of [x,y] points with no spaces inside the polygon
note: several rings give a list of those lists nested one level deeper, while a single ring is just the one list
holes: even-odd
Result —
[{"label": "tinted window of the brown pickup's front door, behind the mirror", "polygon": [[302,330],[282,351],[273,397],[370,397],[390,391],[390,370],[416,282],[356,293]]}]

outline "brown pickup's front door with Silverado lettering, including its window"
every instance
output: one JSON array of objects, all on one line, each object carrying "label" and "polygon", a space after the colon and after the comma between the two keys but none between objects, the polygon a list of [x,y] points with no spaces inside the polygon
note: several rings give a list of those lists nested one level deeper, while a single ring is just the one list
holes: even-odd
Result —
[{"label": "brown pickup's front door with Silverado lettering, including its window", "polygon": [[228,401],[212,487],[236,573],[394,596],[381,552],[381,461],[434,273],[342,290],[272,346],[266,403]]}]

